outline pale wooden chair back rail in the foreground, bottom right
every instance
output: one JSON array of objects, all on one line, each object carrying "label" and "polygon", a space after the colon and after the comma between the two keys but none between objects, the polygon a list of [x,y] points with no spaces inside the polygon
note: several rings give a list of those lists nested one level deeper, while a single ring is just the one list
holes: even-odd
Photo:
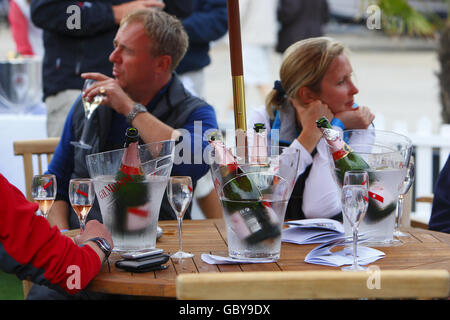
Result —
[{"label": "pale wooden chair back rail in the foreground, bottom right", "polygon": [[182,300],[447,298],[447,270],[224,272],[181,274]]}]

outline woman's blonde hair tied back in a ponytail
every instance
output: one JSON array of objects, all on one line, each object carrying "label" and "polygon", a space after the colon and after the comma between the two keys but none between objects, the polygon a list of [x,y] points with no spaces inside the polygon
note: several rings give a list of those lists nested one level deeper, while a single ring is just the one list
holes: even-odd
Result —
[{"label": "woman's blonde hair tied back in a ponytail", "polygon": [[281,109],[297,99],[301,87],[320,93],[320,82],[334,58],[346,51],[344,45],[328,37],[309,38],[292,44],[280,67],[280,84],[266,97],[266,110],[273,118],[273,108]]}]

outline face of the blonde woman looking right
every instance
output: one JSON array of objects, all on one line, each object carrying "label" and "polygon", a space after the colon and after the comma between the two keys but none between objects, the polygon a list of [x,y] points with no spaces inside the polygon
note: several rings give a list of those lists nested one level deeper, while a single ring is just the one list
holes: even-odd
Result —
[{"label": "face of the blonde woman looking right", "polygon": [[358,88],[352,81],[352,66],[345,54],[340,54],[331,62],[321,83],[319,99],[328,105],[336,114],[351,110],[354,103],[353,96]]}]

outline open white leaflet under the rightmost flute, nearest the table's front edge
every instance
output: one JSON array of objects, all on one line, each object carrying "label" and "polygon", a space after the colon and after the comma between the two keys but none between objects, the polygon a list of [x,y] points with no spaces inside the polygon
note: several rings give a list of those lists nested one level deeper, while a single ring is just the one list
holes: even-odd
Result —
[{"label": "open white leaflet under the rightmost flute, nearest the table's front edge", "polygon": [[[320,264],[325,266],[340,267],[347,264],[353,264],[352,248],[344,248],[343,250],[331,252],[331,248],[344,244],[344,239],[333,240],[314,248],[305,257],[305,262],[312,264]],[[358,263],[366,265],[384,258],[385,253],[364,246],[358,246]]]}]

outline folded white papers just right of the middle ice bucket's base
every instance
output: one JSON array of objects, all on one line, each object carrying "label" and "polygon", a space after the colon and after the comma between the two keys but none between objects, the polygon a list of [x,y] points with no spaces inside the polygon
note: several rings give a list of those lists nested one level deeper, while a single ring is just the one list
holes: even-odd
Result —
[{"label": "folded white papers just right of the middle ice bucket's base", "polygon": [[281,241],[296,244],[325,243],[344,238],[344,226],[333,219],[303,219],[288,221]]}]

